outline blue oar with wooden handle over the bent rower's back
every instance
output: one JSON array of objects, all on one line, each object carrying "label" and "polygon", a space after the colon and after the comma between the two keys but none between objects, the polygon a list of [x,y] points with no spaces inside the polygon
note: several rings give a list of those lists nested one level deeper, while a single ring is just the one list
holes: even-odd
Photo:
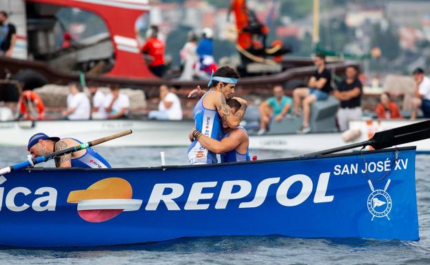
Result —
[{"label": "blue oar with wooden handle over the bent rower's back", "polygon": [[41,162],[46,162],[48,160],[51,160],[56,156],[62,156],[66,153],[74,153],[79,150],[87,149],[88,147],[94,147],[94,145],[100,145],[103,142],[114,140],[116,138],[120,138],[128,134],[132,134],[131,129],[127,131],[122,131],[118,134],[112,134],[111,136],[106,136],[100,139],[92,140],[91,142],[85,142],[85,143],[82,143],[81,145],[77,145],[76,147],[70,147],[68,149],[50,153],[49,155],[46,155],[46,156],[39,156],[38,158],[29,158],[28,160],[20,162],[16,165],[0,169],[0,176],[10,173],[11,171],[14,171],[14,170],[25,169],[25,167],[33,167],[34,165],[39,164]]}]

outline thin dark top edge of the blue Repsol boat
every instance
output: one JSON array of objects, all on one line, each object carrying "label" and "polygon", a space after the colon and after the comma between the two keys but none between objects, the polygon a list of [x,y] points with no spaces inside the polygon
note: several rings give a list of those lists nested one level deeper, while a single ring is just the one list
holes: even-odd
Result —
[{"label": "thin dark top edge of the blue Repsol boat", "polygon": [[[369,150],[360,152],[362,155],[367,155],[369,153],[387,153],[391,151],[409,151],[415,150],[416,146],[408,146],[408,147],[391,147],[388,149],[380,149],[380,150]],[[358,152],[349,152],[349,153],[330,153],[325,156],[313,156],[313,157],[305,157],[302,156],[294,156],[290,158],[270,158],[263,160],[255,160],[255,161],[241,161],[241,162],[225,162],[225,163],[217,163],[217,164],[206,164],[206,165],[167,165],[167,166],[159,166],[159,167],[118,167],[118,168],[110,168],[110,169],[88,169],[88,168],[55,168],[55,167],[30,167],[22,169],[22,171],[146,171],[146,170],[162,170],[166,169],[190,169],[190,168],[204,168],[204,167],[223,167],[223,166],[231,166],[231,165],[249,165],[249,164],[260,164],[260,163],[271,163],[271,162],[289,162],[289,161],[298,161],[298,160],[320,160],[325,158],[336,158],[342,156],[357,156],[360,154]]]}]

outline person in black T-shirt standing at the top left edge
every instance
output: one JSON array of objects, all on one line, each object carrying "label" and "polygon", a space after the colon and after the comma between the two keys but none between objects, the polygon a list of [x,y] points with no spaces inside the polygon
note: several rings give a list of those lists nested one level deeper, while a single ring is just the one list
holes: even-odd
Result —
[{"label": "person in black T-shirt standing at the top left edge", "polygon": [[9,23],[8,17],[6,11],[0,11],[0,54],[10,57],[17,42],[17,29],[14,24]]}]

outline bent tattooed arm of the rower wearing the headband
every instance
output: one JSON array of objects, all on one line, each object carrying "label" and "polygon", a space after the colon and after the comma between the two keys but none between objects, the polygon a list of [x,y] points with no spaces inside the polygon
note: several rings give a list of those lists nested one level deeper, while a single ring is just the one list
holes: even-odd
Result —
[{"label": "bent tattooed arm of the rower wearing the headband", "polygon": [[225,122],[230,128],[238,127],[240,121],[243,118],[243,115],[245,114],[245,110],[247,109],[246,100],[241,99],[239,101],[239,103],[242,105],[233,114],[232,108],[229,105],[227,105],[227,103],[225,102],[225,96],[221,92],[218,92],[218,94],[219,96],[214,97],[215,98],[214,103],[216,106],[216,110],[218,111],[218,114],[221,116],[221,119],[225,120]]}]

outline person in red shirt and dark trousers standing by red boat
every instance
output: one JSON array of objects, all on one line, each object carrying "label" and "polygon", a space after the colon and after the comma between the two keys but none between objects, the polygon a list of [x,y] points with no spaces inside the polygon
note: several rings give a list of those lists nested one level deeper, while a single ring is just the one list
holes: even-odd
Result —
[{"label": "person in red shirt and dark trousers standing by red boat", "polygon": [[152,26],[150,28],[149,38],[143,44],[141,52],[152,57],[149,65],[151,72],[158,77],[163,77],[165,44],[161,39],[158,39],[158,27]]}]

